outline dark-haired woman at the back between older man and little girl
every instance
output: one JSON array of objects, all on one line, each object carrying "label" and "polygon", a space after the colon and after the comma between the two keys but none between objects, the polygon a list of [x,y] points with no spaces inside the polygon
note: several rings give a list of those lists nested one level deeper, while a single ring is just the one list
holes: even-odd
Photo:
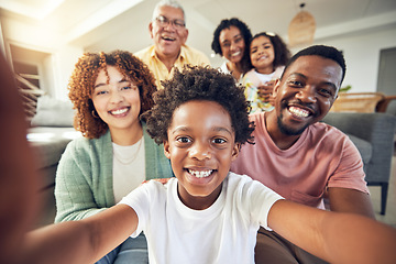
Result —
[{"label": "dark-haired woman at the back between older man and little girl", "polygon": [[251,30],[237,18],[222,20],[213,33],[211,48],[227,59],[220,70],[232,74],[239,82],[242,81],[242,76],[252,68],[248,47],[251,38]]}]

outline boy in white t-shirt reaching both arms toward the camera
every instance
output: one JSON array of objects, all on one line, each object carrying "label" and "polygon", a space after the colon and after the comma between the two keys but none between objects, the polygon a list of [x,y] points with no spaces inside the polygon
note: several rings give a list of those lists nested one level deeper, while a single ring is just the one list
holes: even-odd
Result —
[{"label": "boy in white t-shirt reaching both arms toward the camera", "polygon": [[331,263],[394,262],[391,227],[284,200],[229,172],[254,129],[231,75],[204,67],[176,72],[155,102],[147,130],[164,143],[176,178],[143,184],[90,218],[32,232],[26,260],[90,263],[144,231],[150,263],[253,263],[262,226]]}]

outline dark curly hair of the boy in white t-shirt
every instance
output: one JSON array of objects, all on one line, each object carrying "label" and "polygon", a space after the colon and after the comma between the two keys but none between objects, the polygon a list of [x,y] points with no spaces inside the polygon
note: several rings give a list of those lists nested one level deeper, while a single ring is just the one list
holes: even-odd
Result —
[{"label": "dark curly hair of the boy in white t-shirt", "polygon": [[175,70],[174,77],[162,81],[164,89],[154,95],[155,105],[144,113],[147,132],[157,144],[167,140],[167,130],[179,106],[191,100],[208,100],[220,103],[231,117],[235,142],[253,144],[254,123],[249,121],[250,103],[244,88],[237,86],[229,74],[209,66],[185,66]]}]

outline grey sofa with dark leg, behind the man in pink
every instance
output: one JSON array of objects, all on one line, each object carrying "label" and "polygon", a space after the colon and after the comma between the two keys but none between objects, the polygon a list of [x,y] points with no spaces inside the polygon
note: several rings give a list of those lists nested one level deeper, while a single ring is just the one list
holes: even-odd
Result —
[{"label": "grey sofa with dark leg, behind the man in pink", "polygon": [[385,215],[396,117],[380,112],[329,112],[322,121],[348,134],[356,145],[367,185],[381,186],[381,215]]}]

